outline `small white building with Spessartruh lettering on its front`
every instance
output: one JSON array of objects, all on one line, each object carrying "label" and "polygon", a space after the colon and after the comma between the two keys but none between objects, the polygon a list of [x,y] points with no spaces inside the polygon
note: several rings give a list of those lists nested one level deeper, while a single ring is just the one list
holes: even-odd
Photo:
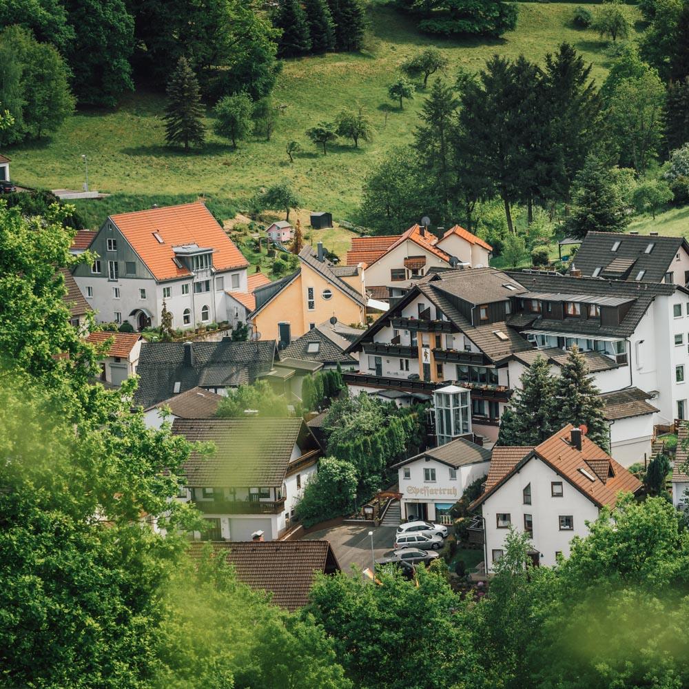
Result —
[{"label": "small white building with Spessartruh lettering on its front", "polygon": [[457,438],[391,466],[398,470],[402,518],[451,524],[451,507],[466,486],[488,473],[490,461],[490,450]]}]

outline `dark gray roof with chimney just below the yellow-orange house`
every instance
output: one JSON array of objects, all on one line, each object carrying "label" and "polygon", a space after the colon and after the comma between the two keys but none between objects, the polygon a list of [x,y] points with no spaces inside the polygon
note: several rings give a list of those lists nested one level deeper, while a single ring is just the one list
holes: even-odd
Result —
[{"label": "dark gray roof with chimney just below the yellow-orange house", "polygon": [[136,373],[140,378],[134,403],[144,409],[167,400],[180,384],[194,387],[237,387],[254,382],[273,367],[274,340],[259,342],[191,342],[193,361],[184,363],[184,342],[143,342]]}]

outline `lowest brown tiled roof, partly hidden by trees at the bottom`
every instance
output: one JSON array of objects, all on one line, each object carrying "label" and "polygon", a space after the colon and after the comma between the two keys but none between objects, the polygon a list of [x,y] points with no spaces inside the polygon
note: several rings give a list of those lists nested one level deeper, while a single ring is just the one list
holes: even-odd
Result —
[{"label": "lowest brown tiled roof, partly hidden by trees at the bottom", "polygon": [[[203,543],[192,543],[190,554],[200,557]],[[214,542],[218,557],[234,565],[237,578],[254,590],[271,593],[271,601],[294,611],[309,602],[316,573],[340,571],[327,541],[225,541]]]}]

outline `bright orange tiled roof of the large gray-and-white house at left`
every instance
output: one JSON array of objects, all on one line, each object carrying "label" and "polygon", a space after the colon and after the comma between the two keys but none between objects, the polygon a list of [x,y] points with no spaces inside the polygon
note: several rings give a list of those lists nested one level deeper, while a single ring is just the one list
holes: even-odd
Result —
[{"label": "bright orange tiled roof of the large gray-and-white house at left", "polygon": [[[172,247],[196,243],[212,247],[216,270],[244,268],[249,263],[230,240],[225,231],[203,203],[152,208],[133,213],[110,216],[127,241],[156,280],[169,280],[189,275],[186,268],[178,268],[172,258]],[[163,244],[153,236],[157,232]]]}]

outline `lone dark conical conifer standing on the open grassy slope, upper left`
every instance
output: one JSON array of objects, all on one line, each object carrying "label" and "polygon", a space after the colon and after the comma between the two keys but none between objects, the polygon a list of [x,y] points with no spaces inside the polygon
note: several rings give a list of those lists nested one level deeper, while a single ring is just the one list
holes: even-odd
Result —
[{"label": "lone dark conical conifer standing on the open grassy slope, upper left", "polygon": [[204,108],[198,80],[189,63],[181,57],[167,84],[167,107],[165,108],[165,142],[167,145],[189,144],[202,146],[205,141],[203,126]]}]

